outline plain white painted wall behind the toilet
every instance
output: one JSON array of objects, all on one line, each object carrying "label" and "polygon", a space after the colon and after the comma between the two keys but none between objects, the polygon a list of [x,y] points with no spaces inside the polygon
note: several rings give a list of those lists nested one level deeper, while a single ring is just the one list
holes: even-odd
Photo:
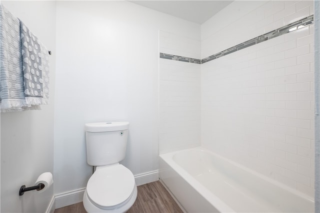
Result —
[{"label": "plain white painted wall behind the toilet", "polygon": [[56,4],[55,194],[91,175],[87,122],[129,121],[123,165],[157,170],[159,29],[199,40],[199,25],[127,1]]}]

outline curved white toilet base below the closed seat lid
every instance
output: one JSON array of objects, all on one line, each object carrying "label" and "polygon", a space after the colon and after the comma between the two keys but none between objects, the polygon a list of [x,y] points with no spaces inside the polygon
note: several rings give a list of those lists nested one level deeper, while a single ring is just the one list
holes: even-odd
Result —
[{"label": "curved white toilet base below the closed seat lid", "polygon": [[86,189],[85,189],[84,195],[83,195],[83,206],[87,213],[125,213],[134,204],[136,196],[137,196],[137,188],[135,185],[132,193],[132,197],[127,203],[125,203],[123,206],[120,206],[119,208],[116,208],[116,209],[103,210],[96,207],[94,204],[90,202],[89,198],[87,197]]}]

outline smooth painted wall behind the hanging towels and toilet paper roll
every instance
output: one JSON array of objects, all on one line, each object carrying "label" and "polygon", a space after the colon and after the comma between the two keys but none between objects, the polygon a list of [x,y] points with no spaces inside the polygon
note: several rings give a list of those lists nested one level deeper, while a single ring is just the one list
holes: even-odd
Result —
[{"label": "smooth painted wall behind the hanging towels and toilet paper roll", "polygon": [[52,51],[49,104],[40,111],[1,113],[1,212],[45,212],[53,187],[19,196],[43,172],[53,173],[55,1],[1,1]]}]

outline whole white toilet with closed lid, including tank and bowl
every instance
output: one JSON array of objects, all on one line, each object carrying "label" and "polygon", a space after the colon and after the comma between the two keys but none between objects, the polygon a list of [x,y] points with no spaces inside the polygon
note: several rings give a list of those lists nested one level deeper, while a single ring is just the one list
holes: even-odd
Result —
[{"label": "whole white toilet with closed lid, including tank and bowl", "polygon": [[137,188],[132,172],[119,164],[125,157],[129,122],[85,124],[87,163],[95,166],[83,195],[88,213],[124,213]]}]

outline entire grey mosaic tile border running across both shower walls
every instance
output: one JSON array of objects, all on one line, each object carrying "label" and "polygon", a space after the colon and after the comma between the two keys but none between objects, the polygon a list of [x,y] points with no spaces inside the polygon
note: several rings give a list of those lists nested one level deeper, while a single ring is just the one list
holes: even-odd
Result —
[{"label": "entire grey mosaic tile border running across both shower walls", "polygon": [[232,52],[244,49],[246,47],[252,46],[254,44],[261,43],[263,41],[269,40],[271,38],[275,38],[277,36],[292,32],[294,30],[303,28],[305,26],[308,26],[310,24],[313,24],[313,14],[309,15],[305,18],[302,18],[300,20],[297,20],[293,23],[290,23],[288,25],[282,26],[280,28],[277,28],[275,30],[272,30],[270,32],[264,33],[262,35],[259,35],[257,37],[254,37],[250,40],[244,41],[240,44],[237,44],[235,46],[232,46],[228,49],[225,49],[221,52],[218,52],[214,55],[210,55],[206,58],[203,59],[195,59],[195,58],[188,58],[188,57],[183,57],[183,56],[177,56],[177,55],[171,55],[171,54],[166,54],[166,53],[161,53],[160,52],[160,58],[164,59],[169,59],[169,60],[176,60],[176,61],[183,61],[183,62],[189,62],[189,63],[197,63],[197,64],[203,64],[205,62],[217,59],[219,57],[222,57],[224,55],[230,54]]}]

